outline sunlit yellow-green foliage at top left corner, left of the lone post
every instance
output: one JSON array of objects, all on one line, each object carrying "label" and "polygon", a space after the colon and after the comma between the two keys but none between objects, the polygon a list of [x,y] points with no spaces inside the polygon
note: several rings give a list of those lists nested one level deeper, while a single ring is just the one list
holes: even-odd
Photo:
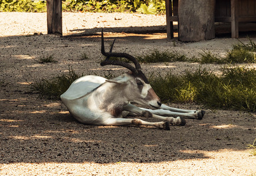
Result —
[{"label": "sunlit yellow-green foliage at top left corner, left of the lone post", "polygon": [[0,0],[0,12],[46,12],[46,1]]}]

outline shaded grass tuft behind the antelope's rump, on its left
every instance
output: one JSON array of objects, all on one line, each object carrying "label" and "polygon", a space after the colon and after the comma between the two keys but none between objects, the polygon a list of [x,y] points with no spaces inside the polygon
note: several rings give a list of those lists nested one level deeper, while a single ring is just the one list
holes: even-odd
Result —
[{"label": "shaded grass tuft behind the antelope's rump, on its left", "polygon": [[42,97],[60,99],[60,95],[70,87],[71,83],[84,76],[83,74],[78,75],[73,69],[68,69],[68,71],[68,74],[63,74],[50,80],[36,80],[35,83],[31,84],[31,91],[37,92],[39,94],[38,97],[41,99]]}]

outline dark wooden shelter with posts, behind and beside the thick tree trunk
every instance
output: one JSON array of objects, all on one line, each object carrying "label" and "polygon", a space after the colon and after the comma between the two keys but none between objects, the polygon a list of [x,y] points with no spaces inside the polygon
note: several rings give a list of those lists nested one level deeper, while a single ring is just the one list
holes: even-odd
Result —
[{"label": "dark wooden shelter with posts, behind and beside the thick tree trunk", "polygon": [[[182,1],[184,0],[166,0],[168,39],[173,38],[173,22],[178,22],[180,32],[178,9],[179,2]],[[216,0],[214,18],[215,22],[230,22],[232,38],[238,38],[239,22],[256,22],[256,0]]]}]

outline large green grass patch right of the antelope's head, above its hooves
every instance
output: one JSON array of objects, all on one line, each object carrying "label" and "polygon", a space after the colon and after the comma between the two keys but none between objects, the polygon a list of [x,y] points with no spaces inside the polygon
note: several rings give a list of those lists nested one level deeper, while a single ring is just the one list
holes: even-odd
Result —
[{"label": "large green grass patch right of the antelope's head, above its hooves", "polygon": [[199,67],[185,75],[153,76],[150,84],[163,101],[195,102],[211,108],[256,111],[256,70],[225,69],[221,77]]}]

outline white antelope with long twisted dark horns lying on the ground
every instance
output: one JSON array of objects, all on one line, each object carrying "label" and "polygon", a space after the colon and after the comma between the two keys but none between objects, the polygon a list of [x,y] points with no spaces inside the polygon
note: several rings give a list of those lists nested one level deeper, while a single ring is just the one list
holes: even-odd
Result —
[{"label": "white antelope with long twisted dark horns lying on the ground", "polygon": [[[183,117],[202,119],[205,111],[175,109],[162,104],[143,74],[139,62],[127,53],[112,53],[113,45],[114,42],[110,52],[105,52],[103,32],[101,32],[101,53],[107,58],[100,65],[119,65],[126,67],[130,72],[111,80],[90,75],[74,81],[61,95],[61,100],[78,121],[106,126],[148,125],[170,130],[169,124],[185,125],[186,121]],[[126,62],[109,60],[109,57],[125,57],[132,61],[135,67]],[[138,103],[155,110],[142,109],[130,103]],[[123,119],[125,116],[153,117],[162,121]]]}]

